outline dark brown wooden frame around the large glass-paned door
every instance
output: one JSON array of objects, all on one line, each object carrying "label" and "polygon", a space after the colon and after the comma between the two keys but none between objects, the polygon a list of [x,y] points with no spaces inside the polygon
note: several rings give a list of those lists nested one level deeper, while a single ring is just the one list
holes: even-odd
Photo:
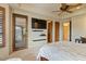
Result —
[{"label": "dark brown wooden frame around the large glass-paned door", "polygon": [[[27,15],[13,13],[12,14],[12,52],[15,51],[15,17],[26,18],[26,34],[28,31],[28,29],[27,29],[27,26],[28,26],[28,17],[27,17]],[[28,38],[28,36],[26,36],[26,38]],[[26,42],[27,42],[27,40],[26,40]]]}]

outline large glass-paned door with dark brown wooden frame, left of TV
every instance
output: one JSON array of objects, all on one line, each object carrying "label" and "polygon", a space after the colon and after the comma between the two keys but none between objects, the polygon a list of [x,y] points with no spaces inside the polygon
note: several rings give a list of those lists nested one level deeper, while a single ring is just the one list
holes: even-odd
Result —
[{"label": "large glass-paned door with dark brown wooden frame, left of TV", "polygon": [[27,48],[27,16],[13,13],[12,23],[12,50],[17,51]]}]

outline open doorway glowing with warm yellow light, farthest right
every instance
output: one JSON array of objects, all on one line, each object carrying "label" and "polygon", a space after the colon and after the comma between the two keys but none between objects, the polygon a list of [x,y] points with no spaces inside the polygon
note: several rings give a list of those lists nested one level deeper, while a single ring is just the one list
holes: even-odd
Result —
[{"label": "open doorway glowing with warm yellow light, farthest right", "polygon": [[63,23],[63,41],[71,41],[71,22]]}]

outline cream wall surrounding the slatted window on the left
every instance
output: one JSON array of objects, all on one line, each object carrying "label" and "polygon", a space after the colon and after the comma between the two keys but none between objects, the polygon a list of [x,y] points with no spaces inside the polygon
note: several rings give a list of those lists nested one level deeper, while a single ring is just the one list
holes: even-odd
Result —
[{"label": "cream wall surrounding the slatted window on the left", "polygon": [[10,43],[10,11],[8,4],[0,4],[5,8],[5,47],[0,48],[0,60],[4,60],[9,55],[9,43]]}]

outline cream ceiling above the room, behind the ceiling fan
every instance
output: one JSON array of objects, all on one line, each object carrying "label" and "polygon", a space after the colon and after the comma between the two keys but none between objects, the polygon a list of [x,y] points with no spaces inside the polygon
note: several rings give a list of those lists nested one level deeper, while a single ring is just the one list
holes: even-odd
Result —
[{"label": "cream ceiling above the room, behind the ceiling fan", "polygon": [[[67,4],[74,5],[75,3],[67,3]],[[21,3],[21,4],[17,3],[17,4],[10,4],[10,5],[13,8],[19,8],[19,9],[29,11],[29,12],[34,12],[34,13],[58,18],[60,12],[52,12],[52,11],[59,10],[61,7],[61,3]],[[74,12],[84,10],[85,8],[86,8],[86,4],[84,3],[81,9],[75,9]],[[62,15],[64,15],[64,14],[70,14],[70,13],[66,13],[66,12],[62,13]]]}]

